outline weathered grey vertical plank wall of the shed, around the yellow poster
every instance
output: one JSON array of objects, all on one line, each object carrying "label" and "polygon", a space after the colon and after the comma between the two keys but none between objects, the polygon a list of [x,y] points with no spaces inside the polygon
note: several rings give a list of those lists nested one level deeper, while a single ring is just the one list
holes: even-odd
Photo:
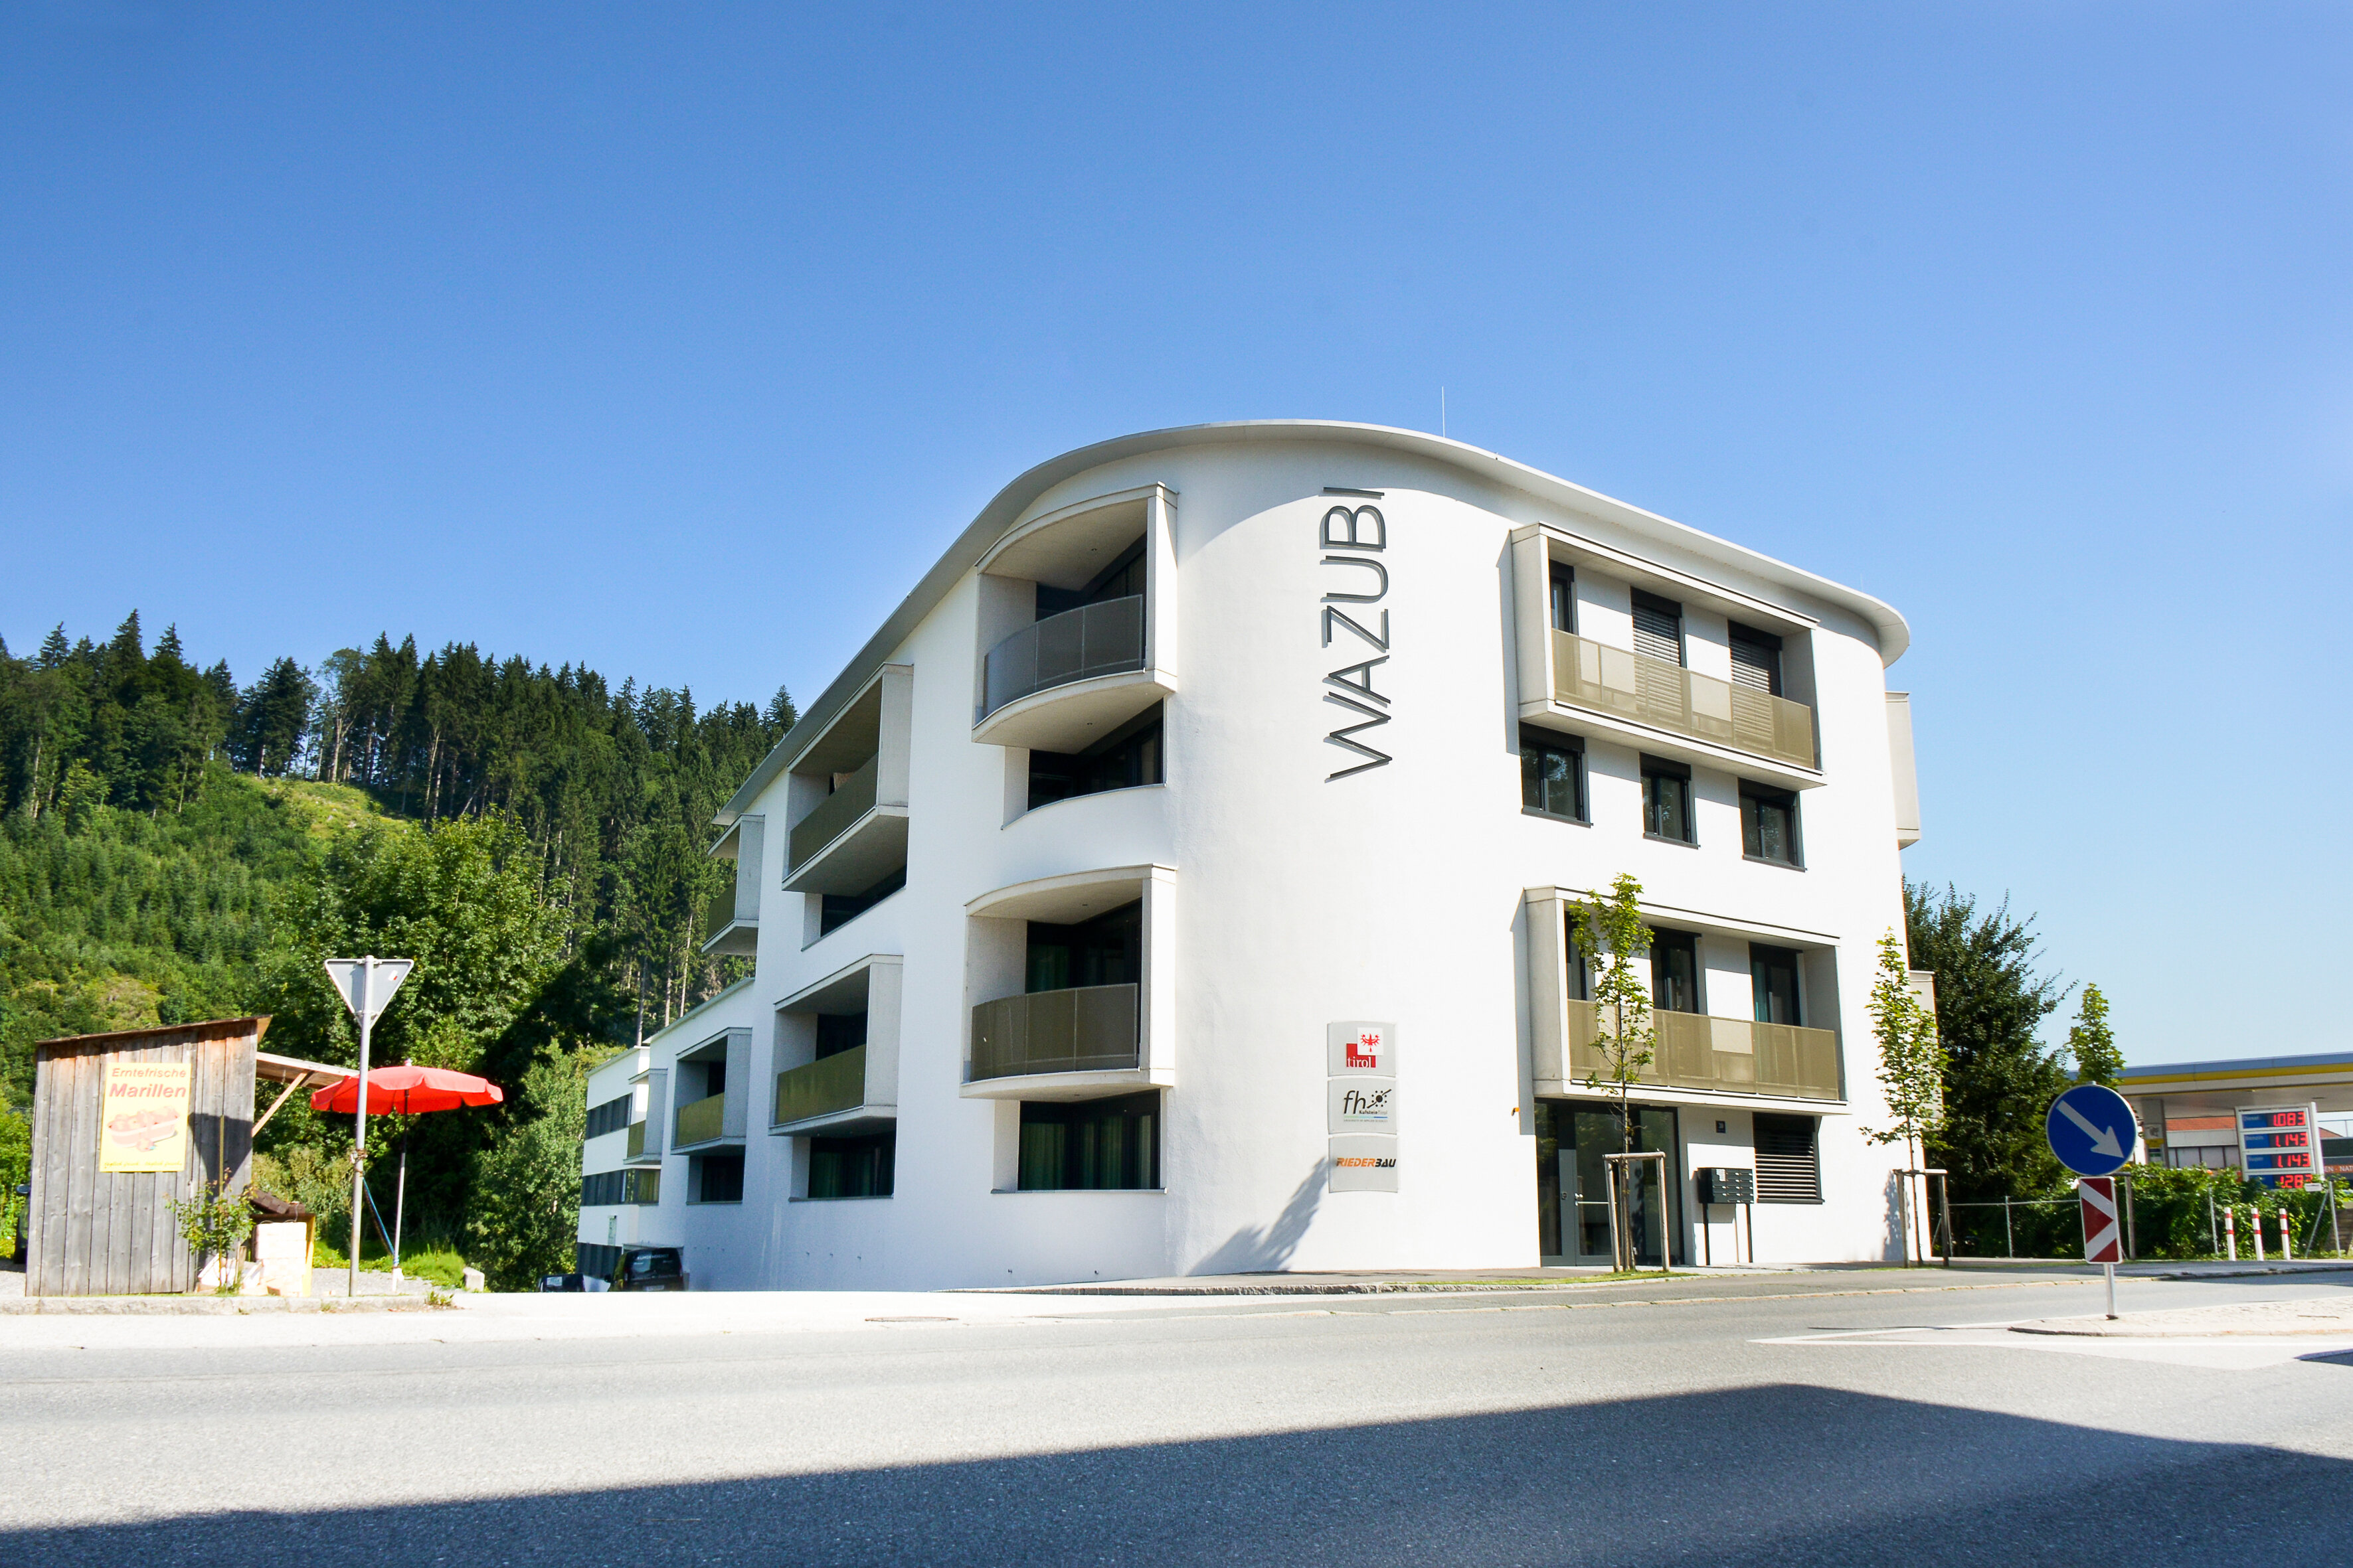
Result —
[{"label": "weathered grey vertical plank wall of the shed, around the yellow poster", "polygon": [[[245,1190],[264,1027],[235,1018],[35,1046],[26,1295],[144,1295],[195,1284],[195,1258],[167,1199],[209,1187],[224,1166],[231,1192]],[[188,1157],[176,1173],[99,1171],[99,1086],[111,1060],[195,1065]]]}]

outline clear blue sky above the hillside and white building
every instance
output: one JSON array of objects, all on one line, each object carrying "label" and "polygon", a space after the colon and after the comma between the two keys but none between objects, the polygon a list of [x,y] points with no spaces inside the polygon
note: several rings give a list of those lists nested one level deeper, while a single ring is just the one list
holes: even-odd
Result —
[{"label": "clear blue sky above the hillside and white building", "polygon": [[1901,607],[1906,867],[2132,1058],[2353,1044],[2346,7],[358,9],[0,12],[12,649],[814,696],[1033,461],[1445,386]]}]

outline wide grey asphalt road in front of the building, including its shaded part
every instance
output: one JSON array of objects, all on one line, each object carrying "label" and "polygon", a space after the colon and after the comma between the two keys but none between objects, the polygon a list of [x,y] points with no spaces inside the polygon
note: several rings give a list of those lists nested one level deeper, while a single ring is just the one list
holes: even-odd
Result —
[{"label": "wide grey asphalt road in front of the building, including its shaded part", "polygon": [[0,1319],[0,1563],[2344,1561],[2346,1342],[1981,1328],[2099,1309],[2047,1276],[1866,1293],[1904,1284]]}]

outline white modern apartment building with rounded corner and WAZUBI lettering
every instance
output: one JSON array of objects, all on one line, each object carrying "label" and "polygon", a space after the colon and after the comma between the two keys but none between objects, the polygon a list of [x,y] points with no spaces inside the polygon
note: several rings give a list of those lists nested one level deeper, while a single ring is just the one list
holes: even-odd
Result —
[{"label": "white modern apartment building with rounded corner and WAZUBI lettering", "polygon": [[1892,1258],[1906,639],[1424,433],[1042,463],[727,802],[755,976],[600,1072],[581,1241],[696,1288],[1605,1262],[1567,910],[1631,872],[1645,1253]]}]

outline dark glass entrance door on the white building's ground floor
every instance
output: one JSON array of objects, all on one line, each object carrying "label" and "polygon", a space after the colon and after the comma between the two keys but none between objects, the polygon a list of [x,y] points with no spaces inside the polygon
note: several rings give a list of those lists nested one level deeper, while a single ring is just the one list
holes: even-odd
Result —
[{"label": "dark glass entrance door on the white building's ground floor", "polygon": [[[1673,1180],[1659,1190],[1659,1164],[1642,1161],[1633,1190],[1635,1262],[1661,1267],[1682,1258],[1682,1159],[1675,1112],[1635,1107],[1638,1152],[1661,1150]],[[1591,1100],[1537,1103],[1537,1244],[1546,1262],[1609,1267],[1609,1166],[1624,1147],[1617,1110]]]}]

